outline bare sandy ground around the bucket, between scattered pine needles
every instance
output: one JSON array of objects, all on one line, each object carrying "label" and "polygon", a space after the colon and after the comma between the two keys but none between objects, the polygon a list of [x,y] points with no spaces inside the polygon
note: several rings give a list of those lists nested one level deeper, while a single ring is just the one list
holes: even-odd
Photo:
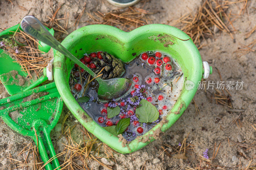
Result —
[{"label": "bare sandy ground around the bucket, between scattered pine needles", "polygon": [[[43,21],[46,21],[46,16],[50,14],[48,0],[12,0],[12,2],[14,5],[7,0],[0,1],[0,28],[2,29],[16,25],[23,16],[28,14],[35,15]],[[66,2],[66,4],[62,6],[58,15],[63,15],[65,11],[69,13],[68,32],[70,33],[77,29],[72,27],[72,25],[74,25],[77,14],[82,11],[84,1],[62,0],[60,2]],[[116,9],[116,7],[111,6],[104,0],[88,0],[86,2],[86,11],[99,10],[105,13]],[[255,142],[256,138],[256,131],[252,128],[252,124],[256,123],[256,53],[250,52],[239,57],[238,53],[235,52],[238,48],[244,48],[243,45],[250,44],[256,38],[256,33],[252,33],[248,39],[244,39],[246,37],[245,33],[251,31],[256,25],[256,3],[255,1],[249,2],[246,11],[240,16],[238,16],[238,13],[242,4],[234,4],[229,7],[229,10],[231,10],[233,14],[236,14],[237,17],[236,20],[233,21],[233,25],[236,29],[236,31],[233,32],[235,41],[231,39],[227,33],[217,32],[213,38],[203,40],[202,44],[205,46],[199,50],[202,60],[208,61],[213,67],[213,74],[206,81],[214,81],[215,83],[220,81],[219,74],[215,67],[220,70],[223,81],[244,81],[243,89],[229,90],[232,95],[233,108],[244,109],[244,112],[230,112],[228,111],[228,107],[216,104],[215,100],[211,99],[210,96],[210,92],[214,92],[212,89],[208,89],[206,93],[204,90],[198,90],[194,99],[198,105],[200,114],[196,113],[195,106],[191,103],[180,119],[161,139],[131,154],[124,155],[115,153],[114,156],[117,163],[112,166],[113,169],[140,169],[144,163],[143,168],[146,169],[196,168],[200,166],[198,159],[200,155],[203,155],[205,149],[209,149],[209,157],[212,158],[215,143],[217,146],[219,146],[219,144],[221,145],[212,164],[232,167],[230,169],[235,169],[234,167],[236,166],[238,169],[238,165],[241,165],[245,169],[251,160],[250,165],[256,163],[255,148],[249,149],[234,145],[234,143],[228,143],[229,138],[235,142],[252,144]],[[137,4],[136,7],[141,7],[143,4],[144,2],[141,2]],[[194,12],[199,5],[199,0],[150,0],[145,3],[143,9],[157,11],[155,14],[149,16],[152,19],[152,23],[166,24],[168,21],[171,21],[169,23],[171,25],[172,21],[178,19],[184,13],[189,11]],[[88,20],[89,17],[84,14],[77,27],[88,25],[88,23],[86,23]],[[206,83],[206,85],[207,84],[208,83]],[[0,84],[0,99],[7,96],[8,94],[3,85]],[[60,121],[66,113],[67,110],[64,109]],[[237,124],[232,124],[236,119]],[[68,117],[70,124],[75,124],[74,120],[73,116]],[[82,128],[82,126],[77,123],[75,128],[77,133],[74,132],[74,134],[79,134],[79,128]],[[51,134],[57,153],[63,150],[61,143],[65,143],[64,138],[57,141],[55,140],[59,134],[60,132],[58,131]],[[162,146],[164,143],[177,146],[187,135],[187,141],[194,145],[194,149],[189,151],[186,155],[188,159],[170,158],[165,153],[160,155],[163,151]],[[79,138],[79,135],[77,138]],[[9,157],[11,153],[13,158],[22,160],[22,156],[17,157],[17,153],[21,151],[23,145],[29,142],[31,142],[30,138],[23,137],[12,131],[0,119],[0,169],[15,168],[14,165],[10,164],[7,157]],[[166,146],[164,146],[164,148],[166,148]],[[217,148],[215,152],[216,150]],[[167,151],[171,152],[172,149],[168,149]],[[160,160],[158,163],[156,163],[156,158]],[[205,165],[203,161],[201,163]],[[99,166],[97,163],[89,163],[89,167],[92,169],[103,169],[103,166]],[[218,169],[220,169],[220,167]]]}]

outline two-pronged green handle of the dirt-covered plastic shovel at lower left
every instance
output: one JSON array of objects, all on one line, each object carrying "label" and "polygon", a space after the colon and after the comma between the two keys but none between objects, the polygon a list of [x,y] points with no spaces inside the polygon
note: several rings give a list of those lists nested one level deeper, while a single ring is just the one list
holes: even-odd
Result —
[{"label": "two-pronged green handle of the dirt-covered plastic shovel at lower left", "polygon": [[[36,130],[37,137],[35,136],[33,139],[38,146],[41,159],[44,161],[44,165],[43,165],[44,168],[46,170],[57,170],[57,169],[59,170],[60,163],[58,161],[58,158],[56,158],[57,155],[52,145],[52,140],[50,138],[50,131],[48,131],[48,129],[44,126],[44,129],[43,129],[44,137],[42,137],[41,136],[42,133],[40,133],[38,128],[35,127],[35,130]],[[50,155],[49,155],[50,159],[47,154],[47,150],[50,152]]]}]

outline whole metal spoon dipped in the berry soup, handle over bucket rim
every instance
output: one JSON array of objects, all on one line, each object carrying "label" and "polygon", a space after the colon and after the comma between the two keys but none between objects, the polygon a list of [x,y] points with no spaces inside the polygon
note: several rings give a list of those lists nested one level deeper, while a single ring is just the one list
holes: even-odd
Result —
[{"label": "whole metal spoon dipped in the berry soup, handle over bucket rim", "polygon": [[80,60],[78,60],[64,46],[62,46],[60,42],[45,29],[44,25],[36,17],[30,15],[25,16],[21,20],[20,26],[29,35],[35,37],[36,39],[44,42],[48,46],[51,46],[60,53],[64,54],[70,60],[75,62],[78,66],[84,68],[84,70],[91,74],[92,77],[96,77],[96,80],[100,84],[98,89],[99,99],[109,101],[127,94],[127,91],[132,85],[132,81],[125,78],[103,80],[100,77],[97,77],[97,74],[95,74],[90,68],[88,68]]}]

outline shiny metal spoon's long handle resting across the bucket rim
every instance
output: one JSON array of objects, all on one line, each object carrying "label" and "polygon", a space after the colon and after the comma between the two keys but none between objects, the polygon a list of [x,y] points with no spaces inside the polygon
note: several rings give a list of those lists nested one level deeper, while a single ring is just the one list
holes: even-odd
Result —
[{"label": "shiny metal spoon's long handle resting across the bucket rim", "polygon": [[[21,28],[27,32],[32,37],[44,42],[48,46],[51,46],[55,50],[67,56],[70,60],[75,62],[78,66],[84,68],[92,77],[96,77],[95,74],[90,68],[85,66],[80,60],[78,60],[73,54],[71,54],[60,42],[55,39],[52,34],[44,27],[44,25],[34,16],[28,15],[25,16],[20,23]],[[100,77],[96,78],[97,81],[102,81]]]}]

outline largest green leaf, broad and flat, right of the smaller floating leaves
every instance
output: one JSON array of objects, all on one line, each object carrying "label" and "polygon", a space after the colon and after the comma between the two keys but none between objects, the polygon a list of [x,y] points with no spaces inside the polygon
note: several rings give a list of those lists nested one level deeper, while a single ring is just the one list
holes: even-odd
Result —
[{"label": "largest green leaf, broad and flat, right of the smaller floating leaves", "polygon": [[147,100],[142,99],[140,101],[140,107],[138,107],[135,111],[137,115],[139,115],[140,123],[148,123],[154,122],[159,117],[159,112],[153,104],[148,102]]}]

